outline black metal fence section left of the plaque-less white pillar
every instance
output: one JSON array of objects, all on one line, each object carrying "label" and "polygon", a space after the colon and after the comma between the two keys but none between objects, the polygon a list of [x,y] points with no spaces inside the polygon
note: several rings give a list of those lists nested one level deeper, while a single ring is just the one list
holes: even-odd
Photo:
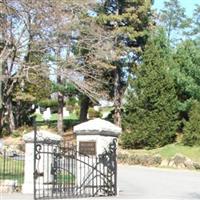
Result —
[{"label": "black metal fence section left of the plaque-less white pillar", "polygon": [[19,192],[24,182],[24,154],[3,150],[0,153],[0,192]]}]

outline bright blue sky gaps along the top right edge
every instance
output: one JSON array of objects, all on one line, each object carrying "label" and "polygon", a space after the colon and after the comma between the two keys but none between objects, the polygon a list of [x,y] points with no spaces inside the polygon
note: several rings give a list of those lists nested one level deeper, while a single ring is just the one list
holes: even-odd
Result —
[{"label": "bright blue sky gaps along the top right edge", "polygon": [[[164,6],[166,0],[154,0],[154,8],[160,10]],[[185,8],[186,14],[192,16],[192,12],[195,8],[195,4],[200,4],[200,0],[179,0],[181,5]]]}]

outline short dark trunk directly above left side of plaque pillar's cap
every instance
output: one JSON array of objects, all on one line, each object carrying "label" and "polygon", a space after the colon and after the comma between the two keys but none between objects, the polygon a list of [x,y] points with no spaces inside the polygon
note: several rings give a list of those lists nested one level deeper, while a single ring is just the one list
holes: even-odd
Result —
[{"label": "short dark trunk directly above left side of plaque pillar's cap", "polygon": [[83,95],[81,98],[81,105],[80,105],[80,122],[87,121],[89,102],[90,99],[88,98],[88,96]]}]

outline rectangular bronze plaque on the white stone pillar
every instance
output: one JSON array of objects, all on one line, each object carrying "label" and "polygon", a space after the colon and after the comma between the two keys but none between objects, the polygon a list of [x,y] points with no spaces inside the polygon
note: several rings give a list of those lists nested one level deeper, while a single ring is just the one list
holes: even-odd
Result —
[{"label": "rectangular bronze plaque on the white stone pillar", "polygon": [[96,142],[79,142],[79,153],[84,155],[96,155]]}]

